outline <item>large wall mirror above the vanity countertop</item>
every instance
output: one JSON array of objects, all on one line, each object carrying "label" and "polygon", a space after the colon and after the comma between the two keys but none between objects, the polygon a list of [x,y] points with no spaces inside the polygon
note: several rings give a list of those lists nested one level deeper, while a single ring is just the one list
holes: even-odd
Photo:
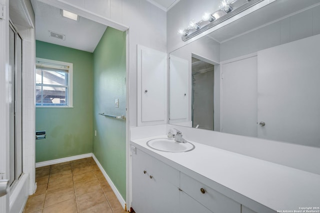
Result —
[{"label": "large wall mirror above the vanity countertop", "polygon": [[169,123],[320,147],[320,0],[275,0],[169,54]]}]

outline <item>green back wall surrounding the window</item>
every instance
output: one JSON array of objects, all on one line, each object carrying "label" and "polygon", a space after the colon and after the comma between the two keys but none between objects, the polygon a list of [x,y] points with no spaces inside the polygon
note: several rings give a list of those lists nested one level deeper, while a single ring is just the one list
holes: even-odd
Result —
[{"label": "green back wall surrounding the window", "polygon": [[93,53],[36,41],[36,57],[73,63],[73,108],[35,109],[35,162],[92,152]]}]

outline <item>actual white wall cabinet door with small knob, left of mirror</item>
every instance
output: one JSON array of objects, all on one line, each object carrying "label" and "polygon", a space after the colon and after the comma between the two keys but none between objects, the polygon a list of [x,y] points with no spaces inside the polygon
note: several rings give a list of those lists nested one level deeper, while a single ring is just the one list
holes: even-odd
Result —
[{"label": "actual white wall cabinet door with small knob, left of mirror", "polygon": [[166,123],[167,54],[138,46],[138,126]]}]

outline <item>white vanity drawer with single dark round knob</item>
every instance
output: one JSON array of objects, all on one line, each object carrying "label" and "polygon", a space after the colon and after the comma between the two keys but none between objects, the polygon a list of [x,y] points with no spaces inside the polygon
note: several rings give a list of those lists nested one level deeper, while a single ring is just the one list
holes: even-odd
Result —
[{"label": "white vanity drawer with single dark round knob", "polygon": [[180,189],[214,213],[241,212],[240,204],[183,173],[180,173]]}]

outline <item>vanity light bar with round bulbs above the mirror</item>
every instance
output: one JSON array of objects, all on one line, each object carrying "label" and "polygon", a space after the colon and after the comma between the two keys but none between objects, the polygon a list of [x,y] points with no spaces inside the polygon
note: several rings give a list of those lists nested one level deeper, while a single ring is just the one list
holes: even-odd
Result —
[{"label": "vanity light bar with round bulbs above the mirror", "polygon": [[200,21],[191,20],[188,28],[180,29],[178,33],[182,41],[186,41],[261,1],[263,0],[220,0],[219,10],[205,12]]}]

